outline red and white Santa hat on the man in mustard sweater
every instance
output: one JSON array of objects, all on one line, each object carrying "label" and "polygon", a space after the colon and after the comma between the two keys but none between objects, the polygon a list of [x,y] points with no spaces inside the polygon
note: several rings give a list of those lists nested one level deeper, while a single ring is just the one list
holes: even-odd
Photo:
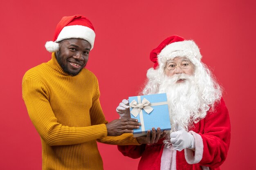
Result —
[{"label": "red and white Santa hat on the man in mustard sweater", "polygon": [[95,40],[95,32],[92,23],[83,15],[73,15],[63,17],[57,24],[53,41],[45,43],[45,48],[49,52],[56,52],[59,50],[61,40],[69,38],[81,38],[91,44],[91,50]]}]

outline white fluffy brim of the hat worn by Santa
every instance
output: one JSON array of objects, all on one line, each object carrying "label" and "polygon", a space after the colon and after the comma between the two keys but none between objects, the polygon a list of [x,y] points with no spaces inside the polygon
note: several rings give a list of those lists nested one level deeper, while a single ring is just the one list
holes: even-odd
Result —
[{"label": "white fluffy brim of the hat worn by Santa", "polygon": [[200,61],[202,55],[200,54],[200,50],[193,40],[185,40],[173,42],[165,46],[164,49],[162,49],[162,51],[157,55],[157,60],[159,64],[166,64],[167,60],[171,60],[175,57],[195,57]]}]

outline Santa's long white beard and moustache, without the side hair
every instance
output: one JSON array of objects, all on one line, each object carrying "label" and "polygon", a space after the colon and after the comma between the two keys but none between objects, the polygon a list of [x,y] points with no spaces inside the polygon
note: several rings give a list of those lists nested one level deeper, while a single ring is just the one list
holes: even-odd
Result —
[{"label": "Santa's long white beard and moustache, without the side hair", "polygon": [[[177,83],[179,79],[185,81]],[[160,83],[159,93],[167,95],[172,132],[177,130],[178,126],[188,130],[193,123],[194,113],[197,113],[200,107],[200,94],[193,79],[193,76],[185,74],[164,76]]]}]

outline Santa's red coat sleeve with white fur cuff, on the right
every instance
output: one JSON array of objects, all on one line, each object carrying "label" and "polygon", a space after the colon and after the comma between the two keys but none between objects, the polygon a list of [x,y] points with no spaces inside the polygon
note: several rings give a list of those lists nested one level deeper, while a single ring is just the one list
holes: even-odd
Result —
[{"label": "Santa's red coat sleeve with white fur cuff, on the right", "polygon": [[214,111],[201,121],[199,133],[190,131],[195,139],[195,152],[185,149],[186,161],[217,168],[227,157],[231,136],[229,113],[224,100],[221,99]]}]

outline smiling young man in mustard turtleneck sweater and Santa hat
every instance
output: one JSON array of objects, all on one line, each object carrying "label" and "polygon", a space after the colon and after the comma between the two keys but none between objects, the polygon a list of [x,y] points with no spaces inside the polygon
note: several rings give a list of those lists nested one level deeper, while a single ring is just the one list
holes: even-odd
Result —
[{"label": "smiling young man in mustard turtleneck sweater and Santa hat", "polygon": [[87,18],[63,17],[53,42],[45,44],[52,59],[23,77],[22,97],[41,137],[43,170],[103,170],[97,141],[145,142],[143,138],[137,141],[128,130],[139,128],[136,119],[105,120],[97,77],[84,68],[94,38],[94,27]]}]

